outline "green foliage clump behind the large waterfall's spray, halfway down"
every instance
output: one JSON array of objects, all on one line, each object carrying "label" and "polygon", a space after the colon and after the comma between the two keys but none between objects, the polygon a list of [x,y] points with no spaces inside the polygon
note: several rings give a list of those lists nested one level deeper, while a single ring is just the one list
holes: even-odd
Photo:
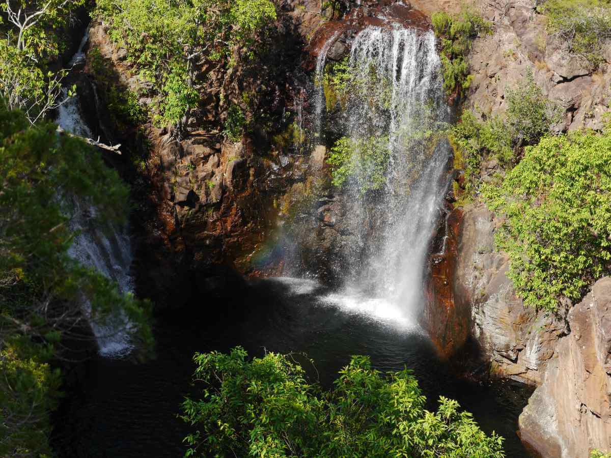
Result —
[{"label": "green foliage clump behind the large waterfall's spray, halfway down", "polygon": [[376,191],[386,184],[386,169],[390,159],[388,137],[368,139],[342,137],[331,148],[327,163],[335,186],[349,181],[356,183],[360,192]]}]

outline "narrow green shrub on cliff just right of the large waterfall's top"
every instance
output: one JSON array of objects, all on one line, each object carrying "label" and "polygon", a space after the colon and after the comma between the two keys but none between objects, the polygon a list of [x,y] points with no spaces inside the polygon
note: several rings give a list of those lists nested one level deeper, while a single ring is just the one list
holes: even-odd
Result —
[{"label": "narrow green shrub on cliff just right of the large waterfall's top", "polygon": [[472,79],[467,62],[471,42],[480,34],[491,33],[491,24],[469,9],[457,15],[434,13],[431,21],[435,35],[441,40],[444,89],[448,95],[461,96],[469,89]]}]

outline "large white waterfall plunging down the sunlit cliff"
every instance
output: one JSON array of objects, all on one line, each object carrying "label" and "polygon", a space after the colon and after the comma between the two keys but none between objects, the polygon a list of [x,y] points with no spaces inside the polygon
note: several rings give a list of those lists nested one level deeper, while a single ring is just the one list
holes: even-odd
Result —
[{"label": "large white waterfall plunging down the sunlit cliff", "polygon": [[[342,129],[351,144],[378,145],[382,156],[357,156],[356,173],[343,186],[354,237],[343,253],[343,291],[329,299],[403,324],[414,324],[424,305],[428,251],[447,183],[440,66],[433,32],[401,27],[365,28],[349,56]],[[372,183],[375,191],[365,192]]]}]

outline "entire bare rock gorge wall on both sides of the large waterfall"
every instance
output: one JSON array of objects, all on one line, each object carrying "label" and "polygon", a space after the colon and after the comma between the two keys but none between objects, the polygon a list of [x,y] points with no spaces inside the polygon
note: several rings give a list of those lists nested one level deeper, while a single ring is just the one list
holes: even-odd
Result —
[{"label": "entire bare rock gorge wall on both sides of the large waterfall", "polygon": [[[249,73],[202,64],[201,102],[184,137],[170,139],[166,129],[148,124],[138,135],[128,130],[123,138],[112,139],[125,142],[128,137],[129,143],[131,137],[135,150],[144,148],[136,145],[143,139],[149,144],[142,151],[147,157],[137,178],[142,187],[133,222],[141,296],[166,307],[181,307],[194,297],[205,302],[239,288],[242,274],[337,282],[340,253],[356,239],[349,230],[345,197],[329,180],[327,149],[308,144],[295,150],[274,140],[274,134],[287,132],[299,110],[311,109],[307,96],[304,103],[306,81],[321,44],[339,23],[343,35],[329,51],[332,60],[349,49],[350,27],[373,18],[379,7],[400,4],[418,12],[425,27],[431,13],[460,8],[453,0],[381,0],[364,1],[355,13],[357,3],[323,10],[318,0],[279,2],[278,38],[284,42],[266,57],[267,70]],[[611,52],[606,50],[597,71],[589,70],[547,34],[535,6],[528,0],[475,2],[494,33],[474,42],[469,56],[474,79],[464,106],[479,117],[502,114],[506,90],[531,68],[544,94],[563,108],[555,130],[600,128],[611,100]],[[353,23],[341,21],[346,13],[354,15]],[[89,46],[112,62],[118,84],[147,101],[147,87],[131,74],[125,50],[109,42],[103,24],[92,25]],[[89,98],[96,97],[92,93]],[[225,140],[222,124],[230,103],[249,116],[269,112],[281,128],[266,131],[263,123],[254,123],[241,140]],[[99,128],[103,136],[112,131],[104,123]],[[498,170],[494,161],[483,164],[482,180]],[[448,204],[452,200],[448,197]],[[507,256],[494,248],[499,220],[477,204],[461,209],[460,216],[450,205],[447,210],[442,232],[452,243],[431,257],[430,294],[439,308],[424,317],[440,352],[452,356],[472,340],[491,363],[492,374],[540,385],[520,425],[524,440],[544,457],[580,457],[590,448],[611,448],[609,279],[596,283],[579,305],[566,304],[566,316],[525,308],[507,277]]]}]

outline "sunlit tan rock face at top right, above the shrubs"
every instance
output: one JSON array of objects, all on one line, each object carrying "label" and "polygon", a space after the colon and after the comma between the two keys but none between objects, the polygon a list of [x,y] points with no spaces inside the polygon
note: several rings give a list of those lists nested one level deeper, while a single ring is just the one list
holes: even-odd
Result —
[{"label": "sunlit tan rock face at top right, above the shrubs", "polygon": [[545,18],[535,10],[536,1],[478,0],[475,4],[493,24],[494,34],[474,42],[469,56],[474,79],[467,107],[486,117],[502,113],[507,89],[516,87],[530,68],[544,95],[563,110],[555,126],[558,131],[602,128],[602,114],[611,100],[609,49],[602,53],[606,61],[594,73],[583,57],[569,54],[566,43],[547,34]]}]

